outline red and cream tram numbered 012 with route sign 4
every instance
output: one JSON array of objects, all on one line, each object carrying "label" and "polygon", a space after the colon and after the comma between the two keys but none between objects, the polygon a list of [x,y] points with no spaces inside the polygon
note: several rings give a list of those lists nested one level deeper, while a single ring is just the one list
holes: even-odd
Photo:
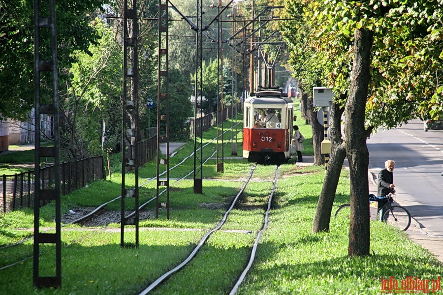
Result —
[{"label": "red and cream tram numbered 012 with route sign 4", "polygon": [[260,90],[243,105],[243,157],[281,163],[290,158],[294,104],[275,89]]}]

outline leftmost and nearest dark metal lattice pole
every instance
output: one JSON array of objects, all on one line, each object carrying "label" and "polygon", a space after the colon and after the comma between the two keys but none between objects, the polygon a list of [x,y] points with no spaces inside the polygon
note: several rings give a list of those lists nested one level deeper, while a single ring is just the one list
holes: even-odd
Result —
[{"label": "leftmost and nearest dark metal lattice pole", "polygon": [[[45,1],[46,3],[46,1]],[[48,4],[48,3],[46,3]],[[49,17],[40,13],[49,12]],[[47,36],[50,31],[51,46],[49,50],[40,47],[41,35]],[[60,133],[59,133],[59,97],[57,74],[57,32],[55,16],[55,0],[49,7],[40,10],[39,0],[34,0],[34,99],[35,99],[35,178],[34,178],[34,255],[33,255],[33,284],[36,287],[62,286],[62,241],[61,241],[61,204],[60,204]],[[43,58],[51,57],[51,59]],[[51,80],[52,99],[40,97],[40,83]],[[42,117],[40,117],[42,116]],[[40,119],[50,118],[53,128],[53,147],[40,145]],[[55,182],[44,183],[40,177],[40,158],[53,157]],[[43,187],[43,188],[42,188]],[[40,201],[55,201],[55,234],[40,233]],[[39,249],[40,244],[55,244],[55,275],[40,276]]]}]

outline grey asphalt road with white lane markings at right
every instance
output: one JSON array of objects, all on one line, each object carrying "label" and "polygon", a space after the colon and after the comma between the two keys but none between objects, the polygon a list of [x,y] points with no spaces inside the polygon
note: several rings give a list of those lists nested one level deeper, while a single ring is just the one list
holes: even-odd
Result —
[{"label": "grey asphalt road with white lane markings at right", "polygon": [[443,130],[425,132],[422,121],[412,120],[379,130],[367,146],[369,171],[376,176],[384,161],[395,161],[396,201],[411,212],[415,227],[418,223],[422,234],[443,238]]}]

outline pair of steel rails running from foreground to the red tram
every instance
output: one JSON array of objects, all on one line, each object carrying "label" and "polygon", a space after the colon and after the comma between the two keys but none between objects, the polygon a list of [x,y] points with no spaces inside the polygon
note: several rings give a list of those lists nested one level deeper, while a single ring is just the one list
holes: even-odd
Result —
[{"label": "pair of steel rails running from foreground to the red tram", "polygon": [[[221,230],[221,227],[225,224],[229,213],[231,212],[231,210],[238,206],[238,201],[240,200],[241,196],[243,195],[245,188],[247,187],[247,185],[251,182],[252,176],[253,176],[253,172],[255,171],[257,164],[254,164],[253,167],[251,168],[250,174],[247,177],[247,179],[245,180],[245,183],[243,184],[243,186],[241,187],[241,189],[239,190],[239,192],[237,193],[237,195],[235,196],[235,198],[232,200],[230,207],[225,211],[223,218],[221,219],[220,223],[213,228],[212,230],[210,230],[206,235],[204,235],[200,242],[197,244],[197,246],[192,250],[192,252],[190,253],[190,255],[188,256],[188,258],[186,258],[181,264],[179,264],[178,266],[174,267],[173,269],[165,272],[164,274],[162,274],[160,277],[158,277],[158,279],[156,281],[154,281],[151,285],[149,285],[145,290],[143,290],[139,295],[146,295],[149,292],[153,291],[154,289],[156,289],[160,284],[164,283],[170,276],[172,276],[174,273],[178,272],[180,269],[182,269],[184,266],[188,265],[190,263],[190,261],[192,259],[195,258],[195,256],[197,255],[197,252],[203,247],[203,245],[205,244],[205,242],[208,240],[208,238],[215,233],[216,231]],[[251,256],[249,259],[249,263],[248,265],[244,268],[244,270],[242,271],[242,273],[239,276],[239,279],[237,280],[237,282],[235,283],[235,285],[233,286],[231,292],[229,293],[230,295],[234,295],[236,294],[238,287],[240,286],[240,284],[243,282],[246,274],[248,273],[249,269],[251,268],[253,261],[255,259],[255,253],[256,250],[258,248],[258,241],[263,233],[264,230],[266,230],[268,222],[269,222],[269,213],[271,211],[271,207],[272,207],[272,202],[273,202],[273,196],[274,196],[274,192],[276,189],[276,184],[277,184],[277,180],[279,177],[279,171],[280,171],[280,166],[277,166],[276,171],[275,171],[275,177],[273,180],[273,186],[272,186],[272,190],[271,193],[269,194],[269,197],[267,199],[267,208],[265,210],[265,214],[264,214],[264,221],[263,221],[263,226],[261,228],[261,230],[257,233],[257,236],[255,238],[253,247],[251,249]]]}]

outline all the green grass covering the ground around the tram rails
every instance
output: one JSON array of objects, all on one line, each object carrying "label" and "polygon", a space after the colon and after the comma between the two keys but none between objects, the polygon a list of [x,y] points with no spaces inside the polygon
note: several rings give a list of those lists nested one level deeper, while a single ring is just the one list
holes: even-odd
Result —
[{"label": "all the green grass covering the ground around the tram rails", "polygon": [[[302,131],[303,132],[303,131]],[[305,137],[308,138],[309,135]],[[187,145],[189,145],[188,143]],[[189,152],[184,147],[171,161],[178,163]],[[240,150],[239,150],[240,151]],[[229,154],[228,149],[225,153]],[[188,153],[189,154],[189,153]],[[241,155],[241,153],[239,153]],[[177,157],[177,158],[175,158]],[[175,159],[174,159],[175,158]],[[217,173],[213,162],[205,166],[203,194],[193,193],[192,179],[174,182],[170,189],[170,219],[165,210],[159,218],[140,222],[138,248],[120,247],[119,225],[82,229],[63,227],[63,287],[34,289],[32,259],[1,270],[4,294],[138,294],[161,274],[186,259],[208,229],[219,224],[224,209],[208,209],[206,204],[229,204],[243,184],[234,181],[247,177],[252,164],[229,159],[225,172]],[[149,167],[152,163],[146,165]],[[187,171],[192,164],[183,164]],[[155,166],[151,166],[155,167]],[[146,176],[155,175],[148,168]],[[249,261],[251,246],[262,227],[264,209],[274,178],[275,166],[259,165],[253,183],[233,209],[221,231],[209,237],[196,258],[152,294],[226,294]],[[178,173],[177,173],[178,174]],[[312,233],[318,195],[324,178],[323,167],[282,165],[274,195],[268,229],[263,233],[252,269],[238,294],[380,294],[381,277],[398,280],[408,276],[437,279],[442,265],[405,233],[373,221],[371,255],[348,257],[348,223],[332,219],[329,233]],[[214,179],[215,178],[215,179]],[[63,196],[62,211],[74,206],[95,206],[121,193],[120,175],[91,183],[88,187]],[[127,177],[128,182],[133,177]],[[154,194],[154,181],[140,189],[140,198]],[[349,180],[345,170],[337,188],[335,208],[349,200]],[[131,205],[128,203],[128,205]],[[110,209],[119,209],[120,202]],[[154,204],[147,209],[153,210]],[[40,225],[54,226],[52,204],[41,209]],[[32,231],[32,210],[24,209],[0,216],[0,246],[11,244]],[[168,229],[164,229],[168,228]],[[134,240],[127,227],[125,240]],[[52,275],[54,249],[40,248],[40,275]],[[32,240],[0,249],[0,267],[32,256]]]}]

